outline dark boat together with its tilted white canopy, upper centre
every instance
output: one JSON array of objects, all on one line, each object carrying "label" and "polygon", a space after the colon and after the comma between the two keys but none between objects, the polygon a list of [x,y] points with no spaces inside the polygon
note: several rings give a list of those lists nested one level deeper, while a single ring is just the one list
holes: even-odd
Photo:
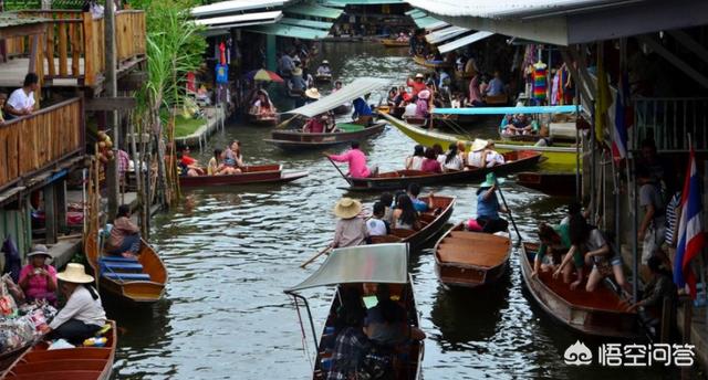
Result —
[{"label": "dark boat together with its tilted white canopy, upper centre", "polygon": [[387,85],[387,80],[374,77],[357,78],[333,94],[300,108],[287,112],[285,114],[293,115],[288,123],[292,128],[290,130],[272,130],[271,138],[263,139],[263,141],[285,150],[317,149],[361,140],[362,138],[381,133],[386,126],[385,122],[371,125],[337,123],[336,127],[339,131],[317,134],[302,131],[302,125],[304,125],[306,119],[335,110],[342,105],[351,104],[353,101]]}]

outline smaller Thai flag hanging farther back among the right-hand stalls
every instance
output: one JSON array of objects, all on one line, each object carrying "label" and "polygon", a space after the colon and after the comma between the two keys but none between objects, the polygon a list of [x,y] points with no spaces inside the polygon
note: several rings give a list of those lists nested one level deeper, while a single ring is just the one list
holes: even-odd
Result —
[{"label": "smaller Thai flag hanging farther back among the right-hand stalls", "polygon": [[620,85],[617,87],[617,94],[608,114],[613,118],[612,157],[615,160],[621,160],[627,157],[627,128],[634,123],[627,73],[623,73],[620,76]]}]

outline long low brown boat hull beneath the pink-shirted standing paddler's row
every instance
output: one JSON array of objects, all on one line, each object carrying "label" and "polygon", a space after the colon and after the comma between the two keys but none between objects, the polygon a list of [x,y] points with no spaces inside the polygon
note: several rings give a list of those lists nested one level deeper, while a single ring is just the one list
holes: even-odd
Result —
[{"label": "long low brown boat hull beneath the pink-shirted standing paddler's row", "polygon": [[348,190],[392,190],[405,189],[410,183],[437,184],[447,182],[466,182],[481,180],[489,172],[507,175],[517,171],[528,170],[535,167],[541,160],[541,154],[537,151],[508,151],[503,154],[507,163],[491,168],[466,167],[465,170],[431,173],[420,170],[396,170],[379,172],[375,177],[368,178],[346,178],[350,182]]}]

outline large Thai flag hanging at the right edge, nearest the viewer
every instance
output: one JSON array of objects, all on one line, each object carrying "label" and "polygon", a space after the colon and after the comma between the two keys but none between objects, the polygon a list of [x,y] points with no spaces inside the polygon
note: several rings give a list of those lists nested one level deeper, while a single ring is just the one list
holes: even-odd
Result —
[{"label": "large Thai flag hanging at the right edge, nearest the viewer", "polygon": [[704,249],[704,223],[700,204],[700,177],[696,169],[694,148],[690,148],[688,170],[681,194],[681,219],[678,224],[678,244],[674,257],[674,282],[678,288],[688,285],[690,296],[696,298],[696,276],[690,268],[690,261]]}]

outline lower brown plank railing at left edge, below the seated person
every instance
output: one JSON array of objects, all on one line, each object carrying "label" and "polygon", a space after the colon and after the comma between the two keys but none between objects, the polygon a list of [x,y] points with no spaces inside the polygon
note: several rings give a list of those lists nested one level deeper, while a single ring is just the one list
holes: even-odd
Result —
[{"label": "lower brown plank railing at left edge, below the seated person", "polygon": [[84,150],[81,98],[0,124],[0,190]]}]

